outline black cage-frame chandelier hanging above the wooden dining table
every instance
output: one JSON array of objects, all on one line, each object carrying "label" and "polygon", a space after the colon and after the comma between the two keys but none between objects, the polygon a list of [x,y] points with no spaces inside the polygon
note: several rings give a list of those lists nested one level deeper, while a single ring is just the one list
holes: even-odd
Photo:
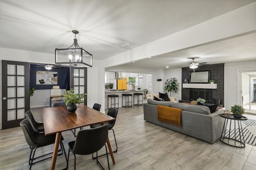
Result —
[{"label": "black cage-frame chandelier hanging above the wooden dining table", "polygon": [[92,54],[79,47],[76,39],[79,32],[72,32],[75,34],[74,43],[66,49],[55,49],[55,63],[70,67],[92,67]]}]

